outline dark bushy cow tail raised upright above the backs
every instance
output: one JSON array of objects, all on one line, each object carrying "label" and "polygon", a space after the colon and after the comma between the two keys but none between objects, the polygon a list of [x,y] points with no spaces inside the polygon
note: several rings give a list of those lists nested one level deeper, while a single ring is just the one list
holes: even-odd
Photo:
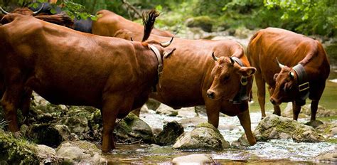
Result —
[{"label": "dark bushy cow tail raised upright above the backs", "polygon": [[156,21],[156,17],[158,16],[159,13],[156,10],[151,10],[147,13],[143,13],[144,36],[141,40],[142,42],[146,41],[149,38],[151,31],[154,28],[154,21]]}]

